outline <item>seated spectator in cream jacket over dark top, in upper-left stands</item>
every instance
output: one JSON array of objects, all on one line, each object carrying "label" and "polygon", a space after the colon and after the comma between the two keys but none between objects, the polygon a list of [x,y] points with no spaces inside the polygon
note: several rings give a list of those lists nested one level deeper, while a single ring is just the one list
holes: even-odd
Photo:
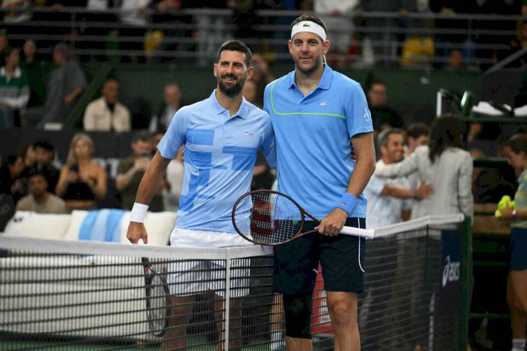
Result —
[{"label": "seated spectator in cream jacket over dark top, in upper-left stands", "polygon": [[130,111],[118,101],[119,83],[104,82],[102,96],[92,101],[84,112],[84,130],[95,132],[129,132]]}]

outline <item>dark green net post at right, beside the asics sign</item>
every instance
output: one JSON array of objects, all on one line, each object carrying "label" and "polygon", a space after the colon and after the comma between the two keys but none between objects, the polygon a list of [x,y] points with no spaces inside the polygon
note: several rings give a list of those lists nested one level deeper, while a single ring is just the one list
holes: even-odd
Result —
[{"label": "dark green net post at right, beside the asics sign", "polygon": [[469,345],[469,316],[470,316],[470,286],[472,277],[472,218],[465,216],[461,232],[461,320],[460,320],[460,350],[464,351]]}]

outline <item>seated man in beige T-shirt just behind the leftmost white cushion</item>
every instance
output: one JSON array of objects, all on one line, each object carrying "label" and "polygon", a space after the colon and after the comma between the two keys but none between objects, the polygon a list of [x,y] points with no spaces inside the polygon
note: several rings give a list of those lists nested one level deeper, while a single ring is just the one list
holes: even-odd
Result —
[{"label": "seated man in beige T-shirt just behind the leftmost white cushion", "polygon": [[33,173],[27,186],[29,195],[18,201],[16,209],[36,213],[65,213],[64,200],[48,192],[47,188],[46,176],[40,172]]}]

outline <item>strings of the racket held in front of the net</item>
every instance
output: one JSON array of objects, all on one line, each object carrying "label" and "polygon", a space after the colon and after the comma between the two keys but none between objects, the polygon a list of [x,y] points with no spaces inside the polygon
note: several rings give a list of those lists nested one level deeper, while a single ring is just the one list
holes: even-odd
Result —
[{"label": "strings of the racket held in front of the net", "polygon": [[261,244],[279,244],[301,229],[301,211],[289,198],[270,192],[255,192],[240,201],[235,220],[240,234]]}]

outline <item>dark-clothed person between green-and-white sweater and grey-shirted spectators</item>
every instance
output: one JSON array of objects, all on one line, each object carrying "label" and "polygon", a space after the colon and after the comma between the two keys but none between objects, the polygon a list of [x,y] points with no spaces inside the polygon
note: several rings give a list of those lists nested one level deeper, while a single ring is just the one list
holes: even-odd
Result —
[{"label": "dark-clothed person between green-and-white sweater and grey-shirted spectators", "polygon": [[30,85],[30,101],[27,107],[41,106],[44,103],[45,87],[42,59],[37,54],[36,43],[33,39],[27,39],[22,47],[21,67],[27,73]]}]

